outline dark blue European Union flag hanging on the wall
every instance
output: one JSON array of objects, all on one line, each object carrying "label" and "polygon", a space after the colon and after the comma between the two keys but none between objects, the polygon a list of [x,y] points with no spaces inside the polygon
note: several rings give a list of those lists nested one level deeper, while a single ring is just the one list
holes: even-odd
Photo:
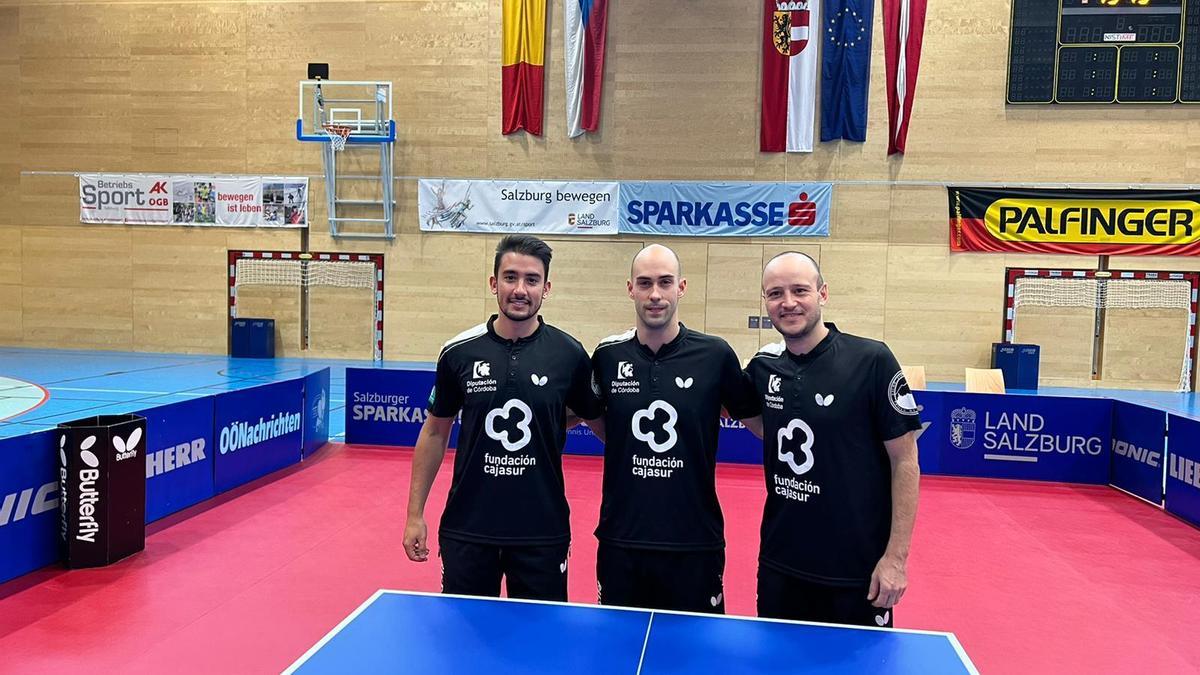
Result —
[{"label": "dark blue European Union flag hanging on the wall", "polygon": [[821,141],[866,141],[874,0],[824,0]]}]

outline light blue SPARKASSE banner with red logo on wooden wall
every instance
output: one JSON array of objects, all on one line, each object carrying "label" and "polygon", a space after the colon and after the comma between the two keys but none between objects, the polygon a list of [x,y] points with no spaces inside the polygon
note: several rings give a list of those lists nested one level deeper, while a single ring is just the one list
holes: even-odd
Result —
[{"label": "light blue SPARKASSE banner with red logo on wooden wall", "polygon": [[683,237],[828,237],[828,183],[622,183],[620,231]]}]

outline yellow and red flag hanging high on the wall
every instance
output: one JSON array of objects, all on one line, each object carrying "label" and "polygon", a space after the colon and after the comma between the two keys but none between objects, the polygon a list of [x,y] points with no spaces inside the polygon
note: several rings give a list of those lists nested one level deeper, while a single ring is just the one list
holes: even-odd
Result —
[{"label": "yellow and red flag hanging high on the wall", "polygon": [[541,136],[542,64],[546,60],[546,0],[504,0],[502,52],[503,133]]}]

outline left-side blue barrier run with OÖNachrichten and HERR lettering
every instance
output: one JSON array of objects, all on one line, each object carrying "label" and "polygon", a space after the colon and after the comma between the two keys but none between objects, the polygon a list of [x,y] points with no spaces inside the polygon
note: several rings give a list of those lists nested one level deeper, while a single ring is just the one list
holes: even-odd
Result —
[{"label": "left-side blue barrier run with O\u00d6Nachrichten and HERR lettering", "polygon": [[[294,465],[329,440],[329,369],[132,411],[146,418],[146,522]],[[0,583],[59,558],[55,430],[0,440]]]}]

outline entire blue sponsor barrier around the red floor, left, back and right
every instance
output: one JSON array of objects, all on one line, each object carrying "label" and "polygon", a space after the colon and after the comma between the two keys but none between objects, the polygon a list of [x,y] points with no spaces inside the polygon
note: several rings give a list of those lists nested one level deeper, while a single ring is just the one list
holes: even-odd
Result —
[{"label": "entire blue sponsor barrier around the red floor, left, back and right", "polygon": [[[347,369],[347,443],[413,446],[432,377]],[[146,522],[316,452],[328,440],[329,390],[325,369],[133,411],[146,418]],[[924,473],[1109,484],[1200,526],[1200,420],[1108,399],[916,396]],[[47,430],[0,440],[0,583],[59,560],[58,437]],[[577,426],[565,452],[599,455],[604,446]],[[722,418],[718,460],[760,464],[762,446],[740,423]]]}]

